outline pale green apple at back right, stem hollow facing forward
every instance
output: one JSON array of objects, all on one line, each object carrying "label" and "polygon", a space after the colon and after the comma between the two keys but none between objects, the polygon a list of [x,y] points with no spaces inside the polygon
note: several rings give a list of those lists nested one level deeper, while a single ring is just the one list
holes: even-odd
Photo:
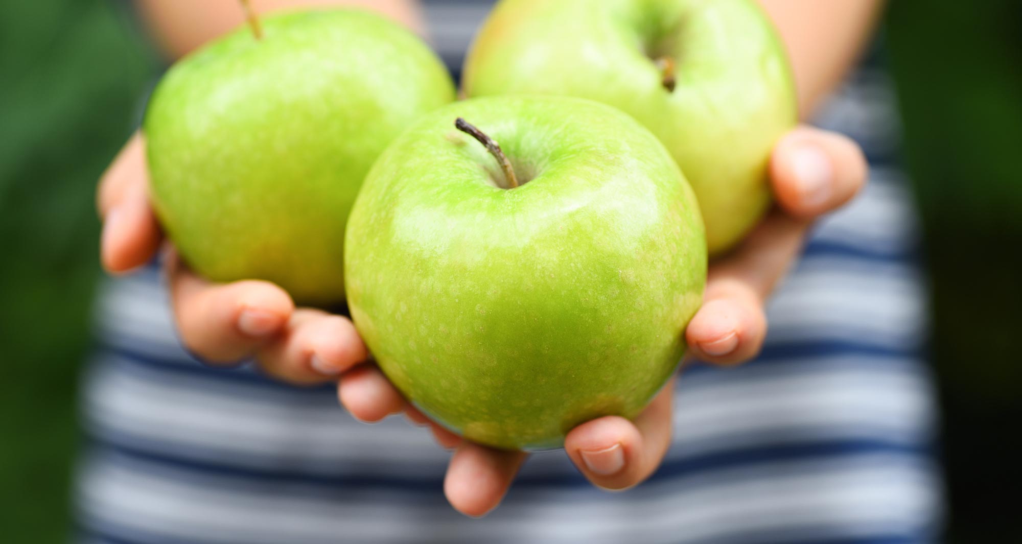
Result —
[{"label": "pale green apple at back right, stem hollow facing forward", "polygon": [[[677,61],[673,92],[653,62],[662,55]],[[750,0],[502,0],[463,85],[468,96],[580,96],[635,117],[692,183],[710,254],[770,207],[770,153],[797,121],[783,46]]]}]

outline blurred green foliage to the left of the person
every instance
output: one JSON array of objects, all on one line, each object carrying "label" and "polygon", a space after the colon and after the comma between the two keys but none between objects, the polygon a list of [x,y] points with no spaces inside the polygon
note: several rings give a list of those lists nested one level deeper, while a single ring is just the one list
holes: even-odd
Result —
[{"label": "blurred green foliage to the left of the person", "polygon": [[62,542],[89,343],[96,179],[130,134],[154,62],[101,0],[0,7],[0,527]]}]

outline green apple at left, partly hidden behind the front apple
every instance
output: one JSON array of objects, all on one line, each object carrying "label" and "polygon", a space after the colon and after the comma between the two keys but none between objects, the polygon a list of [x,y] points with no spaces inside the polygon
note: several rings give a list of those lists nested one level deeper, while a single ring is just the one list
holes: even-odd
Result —
[{"label": "green apple at left, partly hidden behind the front apple", "polygon": [[178,62],[144,122],[151,196],[184,260],[217,281],[343,299],[344,225],[376,157],[454,100],[416,36],[359,10],[268,16]]}]

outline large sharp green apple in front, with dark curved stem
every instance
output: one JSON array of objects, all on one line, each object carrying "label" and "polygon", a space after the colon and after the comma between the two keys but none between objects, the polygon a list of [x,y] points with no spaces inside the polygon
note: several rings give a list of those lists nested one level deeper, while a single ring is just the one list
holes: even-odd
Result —
[{"label": "large sharp green apple in front, with dark curved stem", "polygon": [[[458,117],[530,181],[497,186]],[[635,120],[502,96],[427,114],[384,151],[352,211],[345,274],[356,327],[417,407],[481,444],[548,449],[635,416],[667,380],[706,245],[691,188]]]}]

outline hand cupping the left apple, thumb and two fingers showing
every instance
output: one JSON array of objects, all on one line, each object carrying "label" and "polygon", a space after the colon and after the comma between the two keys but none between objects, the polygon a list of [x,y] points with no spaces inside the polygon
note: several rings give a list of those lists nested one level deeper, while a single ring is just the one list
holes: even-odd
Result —
[{"label": "hand cupping the left apple, thumb and two fingers showing", "polygon": [[[103,174],[97,194],[103,221],[100,261],[112,274],[149,262],[167,245],[164,267],[178,333],[210,364],[254,358],[271,376],[295,384],[336,381],[368,352],[352,322],[322,310],[295,308],[268,281],[213,283],[191,272],[164,241],[149,205],[145,140],[136,134]],[[358,381],[359,371],[351,376]]]}]

